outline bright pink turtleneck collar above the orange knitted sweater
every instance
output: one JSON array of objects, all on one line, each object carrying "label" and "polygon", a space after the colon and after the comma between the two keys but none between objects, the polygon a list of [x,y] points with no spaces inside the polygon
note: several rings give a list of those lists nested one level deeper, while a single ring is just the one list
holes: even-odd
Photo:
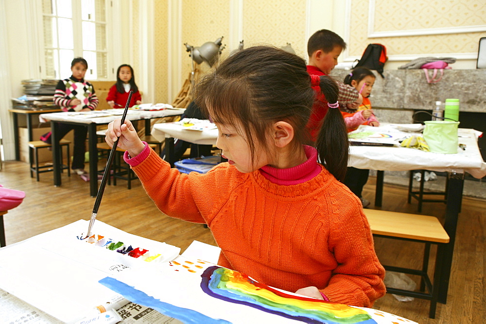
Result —
[{"label": "bright pink turtleneck collar above the orange knitted sweater", "polygon": [[290,186],[303,183],[317,176],[322,168],[317,163],[317,150],[304,145],[307,161],[288,169],[277,169],[268,165],[260,168],[260,172],[270,182]]}]

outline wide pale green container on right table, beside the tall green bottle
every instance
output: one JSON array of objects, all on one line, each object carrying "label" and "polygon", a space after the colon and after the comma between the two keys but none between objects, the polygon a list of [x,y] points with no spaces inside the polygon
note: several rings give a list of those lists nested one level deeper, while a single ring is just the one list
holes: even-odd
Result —
[{"label": "wide pale green container on right table, beside the tall green bottle", "polygon": [[423,137],[431,152],[434,153],[457,153],[458,137],[457,127],[459,122],[450,120],[425,121]]}]

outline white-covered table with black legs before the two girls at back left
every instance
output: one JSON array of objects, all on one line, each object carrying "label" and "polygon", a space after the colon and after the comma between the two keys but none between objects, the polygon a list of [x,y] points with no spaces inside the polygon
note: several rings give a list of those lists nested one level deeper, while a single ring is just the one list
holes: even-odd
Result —
[{"label": "white-covered table with black legs before the two girls at back left", "polygon": [[[167,116],[176,116],[184,113],[184,109],[165,109],[157,111],[145,111],[145,110],[129,110],[126,116],[127,120],[145,120],[145,134],[150,135],[152,118],[160,118]],[[96,113],[116,113],[113,115],[105,115],[94,117]],[[88,151],[89,151],[89,194],[95,197],[98,193],[98,149],[96,148],[97,136],[96,136],[96,126],[109,124],[116,118],[121,118],[122,109],[108,109],[105,111],[93,111],[87,112],[93,113],[93,117],[89,117],[86,114],[76,114],[76,113],[47,113],[42,114],[39,117],[42,120],[51,122],[52,131],[52,161],[59,161],[59,140],[58,131],[59,124],[74,124],[74,125],[84,125],[88,129]],[[87,118],[88,117],[88,118]],[[58,187],[61,185],[61,167],[59,163],[53,164],[54,171],[54,186]]]}]

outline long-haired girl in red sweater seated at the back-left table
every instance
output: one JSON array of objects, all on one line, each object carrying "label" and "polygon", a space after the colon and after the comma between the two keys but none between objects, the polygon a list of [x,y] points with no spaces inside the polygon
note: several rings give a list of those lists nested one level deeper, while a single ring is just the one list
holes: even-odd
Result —
[{"label": "long-haired girl in red sweater seated at the back-left table", "polygon": [[142,97],[139,93],[139,88],[135,83],[133,68],[128,64],[122,64],[117,70],[117,83],[113,84],[106,97],[108,105],[110,105],[111,108],[125,108],[130,90],[133,91],[133,95],[128,107],[141,104]]}]

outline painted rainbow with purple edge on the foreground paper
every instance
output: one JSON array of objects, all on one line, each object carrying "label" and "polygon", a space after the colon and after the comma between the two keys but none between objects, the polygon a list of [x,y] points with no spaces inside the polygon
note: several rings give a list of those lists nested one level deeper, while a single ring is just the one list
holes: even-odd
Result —
[{"label": "painted rainbow with purple edge on the foreground paper", "polygon": [[226,268],[210,266],[201,277],[201,289],[212,297],[296,321],[329,324],[377,323],[363,309],[290,295]]}]

